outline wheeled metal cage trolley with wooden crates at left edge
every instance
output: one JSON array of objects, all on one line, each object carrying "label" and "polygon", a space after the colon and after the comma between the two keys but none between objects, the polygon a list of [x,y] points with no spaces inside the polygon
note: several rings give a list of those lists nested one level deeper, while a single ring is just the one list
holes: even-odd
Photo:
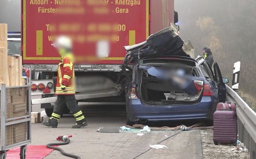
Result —
[{"label": "wheeled metal cage trolley with wooden crates at left edge", "polygon": [[[29,80],[30,81],[30,80]],[[31,143],[31,88],[23,86],[0,88],[0,159],[6,152],[20,146],[20,159],[26,157],[26,145]]]}]

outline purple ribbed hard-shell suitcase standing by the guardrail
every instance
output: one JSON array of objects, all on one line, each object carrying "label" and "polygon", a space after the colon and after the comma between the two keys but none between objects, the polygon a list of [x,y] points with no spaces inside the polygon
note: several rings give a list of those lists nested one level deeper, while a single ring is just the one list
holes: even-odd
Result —
[{"label": "purple ribbed hard-shell suitcase standing by the guardrail", "polygon": [[[218,106],[219,105],[219,106]],[[213,114],[213,142],[218,144],[233,144],[237,141],[237,123],[234,103],[218,103],[217,109]],[[221,109],[222,106],[222,109]]]}]

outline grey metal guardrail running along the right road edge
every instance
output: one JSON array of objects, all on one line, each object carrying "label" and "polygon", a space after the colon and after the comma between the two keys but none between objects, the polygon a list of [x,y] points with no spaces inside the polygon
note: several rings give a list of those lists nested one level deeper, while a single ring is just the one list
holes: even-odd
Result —
[{"label": "grey metal guardrail running along the right road edge", "polygon": [[236,103],[239,140],[249,149],[250,159],[256,159],[256,112],[228,85],[226,92],[226,99]]}]

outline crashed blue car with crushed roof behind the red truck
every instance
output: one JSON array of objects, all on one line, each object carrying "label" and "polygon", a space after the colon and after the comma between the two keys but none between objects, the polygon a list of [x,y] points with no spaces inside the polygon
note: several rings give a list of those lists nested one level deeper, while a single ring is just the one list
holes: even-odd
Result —
[{"label": "crashed blue car with crushed roof behind the red truck", "polygon": [[217,63],[212,69],[203,58],[192,59],[182,47],[172,27],[125,47],[121,68],[127,77],[127,124],[212,120],[217,103],[225,101],[228,79],[222,78]]}]

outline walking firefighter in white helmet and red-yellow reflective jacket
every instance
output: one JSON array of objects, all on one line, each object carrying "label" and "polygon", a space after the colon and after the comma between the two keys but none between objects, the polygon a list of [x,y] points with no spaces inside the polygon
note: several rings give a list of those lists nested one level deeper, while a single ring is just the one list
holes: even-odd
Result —
[{"label": "walking firefighter in white helmet and red-yellow reflective jacket", "polygon": [[56,81],[57,100],[53,107],[52,116],[48,121],[42,122],[45,126],[56,128],[63,107],[66,105],[76,118],[76,124],[72,128],[87,126],[86,119],[79,109],[75,98],[75,71],[72,56],[72,41],[66,36],[59,36],[52,44],[58,49],[61,60],[58,67],[58,77]]}]

